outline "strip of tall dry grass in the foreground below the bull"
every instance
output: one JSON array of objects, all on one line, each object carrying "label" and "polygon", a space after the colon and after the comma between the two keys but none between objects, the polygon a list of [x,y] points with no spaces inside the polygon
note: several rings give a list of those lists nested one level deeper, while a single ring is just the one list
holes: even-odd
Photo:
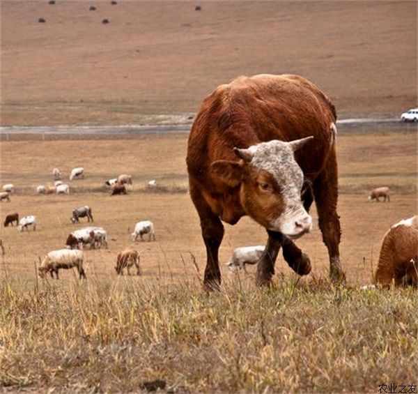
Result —
[{"label": "strip of tall dry grass in the foreground below the bull", "polygon": [[417,384],[416,293],[239,276],[146,285],[76,278],[0,285],[0,386],[130,392],[377,392]]}]

